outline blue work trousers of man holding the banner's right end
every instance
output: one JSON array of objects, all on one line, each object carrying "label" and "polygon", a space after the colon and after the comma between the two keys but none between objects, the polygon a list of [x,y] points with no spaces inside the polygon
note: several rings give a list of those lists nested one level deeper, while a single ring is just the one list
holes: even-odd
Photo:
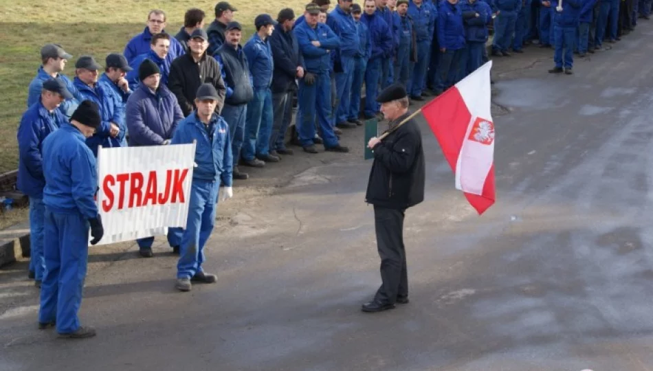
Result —
[{"label": "blue work trousers of man holding the banner's right end", "polygon": [[186,230],[181,237],[177,278],[192,278],[202,271],[204,245],[215,223],[220,181],[192,179]]}]

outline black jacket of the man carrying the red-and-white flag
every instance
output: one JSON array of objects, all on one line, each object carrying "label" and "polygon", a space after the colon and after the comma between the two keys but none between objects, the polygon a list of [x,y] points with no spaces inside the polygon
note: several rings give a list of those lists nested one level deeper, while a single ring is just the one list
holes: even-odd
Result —
[{"label": "black jacket of the man carrying the red-and-white flag", "polygon": [[[409,113],[399,117],[397,125]],[[425,164],[421,133],[414,120],[408,120],[373,149],[365,201],[390,209],[404,210],[424,200]]]}]

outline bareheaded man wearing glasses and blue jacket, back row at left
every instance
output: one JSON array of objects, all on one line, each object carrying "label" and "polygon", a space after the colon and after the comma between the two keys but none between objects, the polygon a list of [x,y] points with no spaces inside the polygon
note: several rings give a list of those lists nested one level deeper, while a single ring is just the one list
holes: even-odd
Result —
[{"label": "bareheaded man wearing glasses and blue jacket, back row at left", "polygon": [[[145,30],[134,36],[129,43],[127,43],[126,47],[124,47],[123,54],[124,57],[127,58],[127,62],[131,64],[132,60],[140,54],[149,52],[152,36],[165,32],[164,28],[166,28],[166,13],[163,10],[151,10],[147,16]],[[170,52],[168,53],[168,56],[166,56],[168,63],[172,63],[175,58],[183,55],[184,47],[181,46],[176,38],[170,37]]]}]

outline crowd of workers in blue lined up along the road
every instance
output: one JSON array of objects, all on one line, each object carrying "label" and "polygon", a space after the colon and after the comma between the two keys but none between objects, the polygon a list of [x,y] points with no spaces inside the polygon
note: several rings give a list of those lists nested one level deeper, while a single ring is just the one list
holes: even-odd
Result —
[{"label": "crowd of workers in blue lined up along the road", "polygon": [[[30,199],[30,278],[41,287],[39,327],[56,322],[60,334],[86,337],[76,317],[86,271],[89,230],[97,243],[102,221],[97,189],[98,146],[161,146],[198,141],[186,229],[170,228],[180,255],[177,289],[215,282],[204,273],[219,192],[232,196],[232,179],[293,155],[346,153],[343,129],[379,117],[377,91],[401,85],[406,102],[439,95],[480,67],[494,24],[493,56],[510,56],[539,40],[555,47],[549,72],[572,73],[573,52],[584,56],[619,41],[649,19],[652,0],[329,0],[254,20],[242,45],[236,8],[221,1],[206,27],[192,8],[170,36],[166,14],[152,10],[143,32],[104,67],[80,56],[75,78],[63,71],[72,56],[62,46],[41,48],[42,65],[28,87],[18,130],[18,188]],[[99,74],[104,69],[103,74]],[[365,104],[360,106],[362,87]],[[285,138],[297,99],[294,136]],[[84,144],[82,146],[81,144]],[[219,191],[220,186],[224,186]],[[137,240],[153,256],[153,238]],[[81,252],[80,252],[81,251]]]}]

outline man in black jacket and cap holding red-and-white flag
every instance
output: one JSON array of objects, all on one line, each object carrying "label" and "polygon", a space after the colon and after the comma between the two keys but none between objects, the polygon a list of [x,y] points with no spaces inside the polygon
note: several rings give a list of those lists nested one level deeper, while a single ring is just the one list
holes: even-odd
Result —
[{"label": "man in black jacket and cap holding red-and-white flag", "polygon": [[[381,137],[373,137],[373,150],[365,201],[374,205],[377,248],[381,257],[381,280],[374,299],[363,304],[364,312],[395,308],[408,303],[408,271],[403,246],[403,217],[408,207],[424,199],[425,165],[421,133],[408,113],[408,95],[401,84],[381,91],[377,98],[389,128]],[[406,120],[406,121],[404,121]]]}]

